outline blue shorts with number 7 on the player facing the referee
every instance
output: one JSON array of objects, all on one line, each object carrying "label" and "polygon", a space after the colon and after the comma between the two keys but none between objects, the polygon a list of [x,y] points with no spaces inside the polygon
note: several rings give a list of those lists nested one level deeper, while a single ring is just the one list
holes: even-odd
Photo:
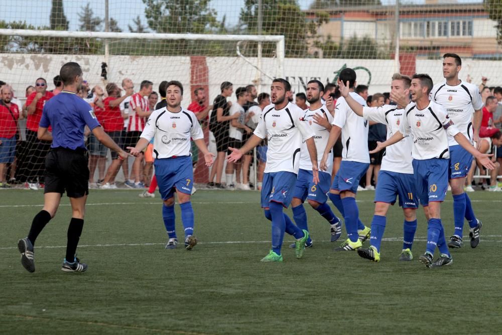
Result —
[{"label": "blue shorts with number 7 on the player facing the referee", "polygon": [[186,194],[192,193],[192,157],[160,158],[154,161],[154,166],[163,200],[173,197],[176,190]]}]

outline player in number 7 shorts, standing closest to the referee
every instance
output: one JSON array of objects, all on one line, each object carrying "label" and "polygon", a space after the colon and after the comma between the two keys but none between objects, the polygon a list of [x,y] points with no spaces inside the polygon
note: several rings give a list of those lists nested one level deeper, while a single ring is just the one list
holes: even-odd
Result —
[{"label": "player in number 7 shorts, standing closest to the referee", "polygon": [[164,200],[162,217],[169,236],[166,249],[176,249],[178,238],[175,230],[174,193],[181,207],[181,220],[185,231],[185,249],[191,250],[197,239],[193,236],[194,218],[190,202],[193,187],[190,137],[204,155],[206,166],[213,164],[211,154],[204,142],[204,134],[197,117],[181,107],[183,86],[179,81],[167,83],[167,106],[155,110],[149,117],[136,147],[128,147],[138,157],[154,139],[155,176]]}]

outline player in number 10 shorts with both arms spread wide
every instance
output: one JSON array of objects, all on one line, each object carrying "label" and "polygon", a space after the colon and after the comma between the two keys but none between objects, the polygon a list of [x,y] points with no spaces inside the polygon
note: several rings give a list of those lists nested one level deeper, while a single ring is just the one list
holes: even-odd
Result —
[{"label": "player in number 10 shorts with both arms spread wide", "polygon": [[[441,224],[441,202],[448,188],[449,149],[447,136],[474,155],[488,169],[495,166],[487,154],[481,154],[469,140],[457,129],[448,118],[446,110],[440,104],[429,100],[432,79],[427,74],[413,76],[410,93],[412,103],[405,108],[405,116],[401,119],[399,132],[384,143],[378,142],[375,150],[397,143],[406,136],[413,138],[413,172],[417,189],[417,198],[425,207],[428,206],[427,251],[420,256],[426,267],[439,267],[452,263],[446,245],[443,225]],[[433,263],[433,255],[439,249],[440,257]]]}]

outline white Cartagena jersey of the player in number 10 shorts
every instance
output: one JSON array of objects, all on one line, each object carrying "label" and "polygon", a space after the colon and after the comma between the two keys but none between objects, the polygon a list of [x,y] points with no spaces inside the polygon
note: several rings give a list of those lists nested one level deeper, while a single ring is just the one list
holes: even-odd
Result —
[{"label": "white Cartagena jersey of the player in number 10 shorts", "polygon": [[405,117],[399,125],[403,136],[410,135],[413,140],[412,158],[425,160],[431,158],[450,158],[448,135],[455,136],[460,131],[448,118],[444,107],[434,101],[424,109],[418,109],[415,102],[405,108]]}]

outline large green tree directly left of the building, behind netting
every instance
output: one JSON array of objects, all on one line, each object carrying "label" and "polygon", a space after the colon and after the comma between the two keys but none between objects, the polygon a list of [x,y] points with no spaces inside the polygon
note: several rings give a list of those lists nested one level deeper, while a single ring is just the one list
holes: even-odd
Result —
[{"label": "large green tree directly left of the building, behind netting", "polygon": [[[304,57],[308,46],[317,36],[319,26],[327,22],[327,13],[316,13],[316,18],[309,18],[301,11],[296,0],[263,0],[262,1],[262,34],[284,35],[286,56]],[[240,25],[247,34],[258,33],[258,0],[245,0],[240,10]],[[247,43],[246,52],[256,54],[256,43]],[[263,43],[263,55],[272,56],[275,45]]]}]

